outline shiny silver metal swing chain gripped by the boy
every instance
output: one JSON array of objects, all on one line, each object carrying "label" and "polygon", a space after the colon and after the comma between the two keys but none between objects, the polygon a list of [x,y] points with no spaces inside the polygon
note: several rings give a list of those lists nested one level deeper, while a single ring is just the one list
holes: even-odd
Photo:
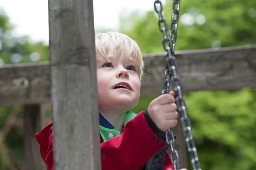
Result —
[{"label": "shiny silver metal swing chain gripped by the boy", "polygon": [[[159,20],[158,20],[159,30],[163,33],[163,39],[162,39],[163,49],[167,52],[166,70],[164,71],[164,78],[163,78],[164,86],[161,94],[166,94],[169,92],[169,87],[171,82],[172,88],[175,91],[177,111],[181,114],[181,123],[182,123],[183,131],[186,134],[186,146],[187,146],[188,152],[190,153],[193,170],[201,170],[195,141],[192,136],[191,122],[186,113],[186,102],[182,95],[182,85],[180,82],[180,78],[177,76],[177,72],[176,72],[177,64],[176,64],[176,59],[174,57],[175,42],[177,39],[177,26],[178,26],[179,11],[180,11],[180,0],[173,0],[172,23],[171,23],[171,29],[169,31],[169,36],[167,36],[167,33],[166,33],[166,31],[168,30],[168,25],[166,23],[166,20],[163,18],[163,14],[162,14],[163,4],[161,0],[155,0],[154,10],[156,11],[159,17]],[[168,46],[166,46],[167,43],[169,43]],[[175,142],[175,137],[171,129],[169,129],[166,132],[166,141],[171,147],[170,157],[171,157],[172,164],[174,166],[174,170],[179,170],[179,155],[177,150],[175,150],[173,147],[173,144]]]}]

